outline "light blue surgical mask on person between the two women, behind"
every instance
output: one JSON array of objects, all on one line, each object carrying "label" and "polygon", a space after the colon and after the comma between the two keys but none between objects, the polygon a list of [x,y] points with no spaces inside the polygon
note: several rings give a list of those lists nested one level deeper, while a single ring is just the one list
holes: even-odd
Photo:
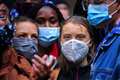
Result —
[{"label": "light blue surgical mask on person between the two women, behind", "polygon": [[42,47],[48,47],[59,38],[59,35],[58,27],[39,27],[39,44]]}]

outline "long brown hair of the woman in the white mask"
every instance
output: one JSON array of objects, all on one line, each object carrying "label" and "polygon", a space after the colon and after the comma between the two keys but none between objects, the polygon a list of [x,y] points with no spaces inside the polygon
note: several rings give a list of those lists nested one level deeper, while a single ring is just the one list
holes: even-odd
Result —
[{"label": "long brown hair of the woman in the white mask", "polygon": [[[63,26],[65,24],[67,24],[67,23],[73,23],[73,24],[83,25],[85,28],[87,28],[88,33],[90,34],[90,37],[91,37],[91,44],[92,44],[90,46],[89,54],[87,56],[88,62],[90,63],[91,60],[93,59],[93,57],[95,56],[95,42],[94,42],[94,35],[93,35],[93,32],[92,32],[92,29],[89,27],[87,19],[84,18],[84,17],[81,17],[81,16],[72,16],[68,20],[65,21],[65,23],[63,24]],[[62,34],[62,29],[61,29],[61,34]],[[69,66],[69,62],[64,58],[64,56],[62,54],[60,55],[58,61],[59,61],[60,66],[63,69],[68,70],[68,68],[70,67]]]}]

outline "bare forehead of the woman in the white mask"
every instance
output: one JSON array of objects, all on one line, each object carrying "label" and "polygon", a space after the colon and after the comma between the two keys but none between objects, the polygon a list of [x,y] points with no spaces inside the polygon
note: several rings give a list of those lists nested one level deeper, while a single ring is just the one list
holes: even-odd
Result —
[{"label": "bare forehead of the woman in the white mask", "polygon": [[67,23],[63,26],[62,33],[74,34],[74,33],[86,33],[87,28],[80,24]]}]

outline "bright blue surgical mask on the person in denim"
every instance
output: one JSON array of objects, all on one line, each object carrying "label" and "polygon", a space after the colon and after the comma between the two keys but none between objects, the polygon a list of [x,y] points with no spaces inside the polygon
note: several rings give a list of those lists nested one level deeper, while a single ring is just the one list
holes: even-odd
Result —
[{"label": "bright blue surgical mask on the person in denim", "polygon": [[90,4],[88,6],[87,14],[87,19],[92,26],[97,26],[103,21],[109,20],[111,18],[107,4]]}]

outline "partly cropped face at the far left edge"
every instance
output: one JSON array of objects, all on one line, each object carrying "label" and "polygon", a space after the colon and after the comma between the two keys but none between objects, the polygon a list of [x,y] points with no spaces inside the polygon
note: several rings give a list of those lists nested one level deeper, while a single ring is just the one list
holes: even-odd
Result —
[{"label": "partly cropped face at the far left edge", "polygon": [[9,10],[5,4],[0,4],[0,26],[4,26],[8,23]]}]

